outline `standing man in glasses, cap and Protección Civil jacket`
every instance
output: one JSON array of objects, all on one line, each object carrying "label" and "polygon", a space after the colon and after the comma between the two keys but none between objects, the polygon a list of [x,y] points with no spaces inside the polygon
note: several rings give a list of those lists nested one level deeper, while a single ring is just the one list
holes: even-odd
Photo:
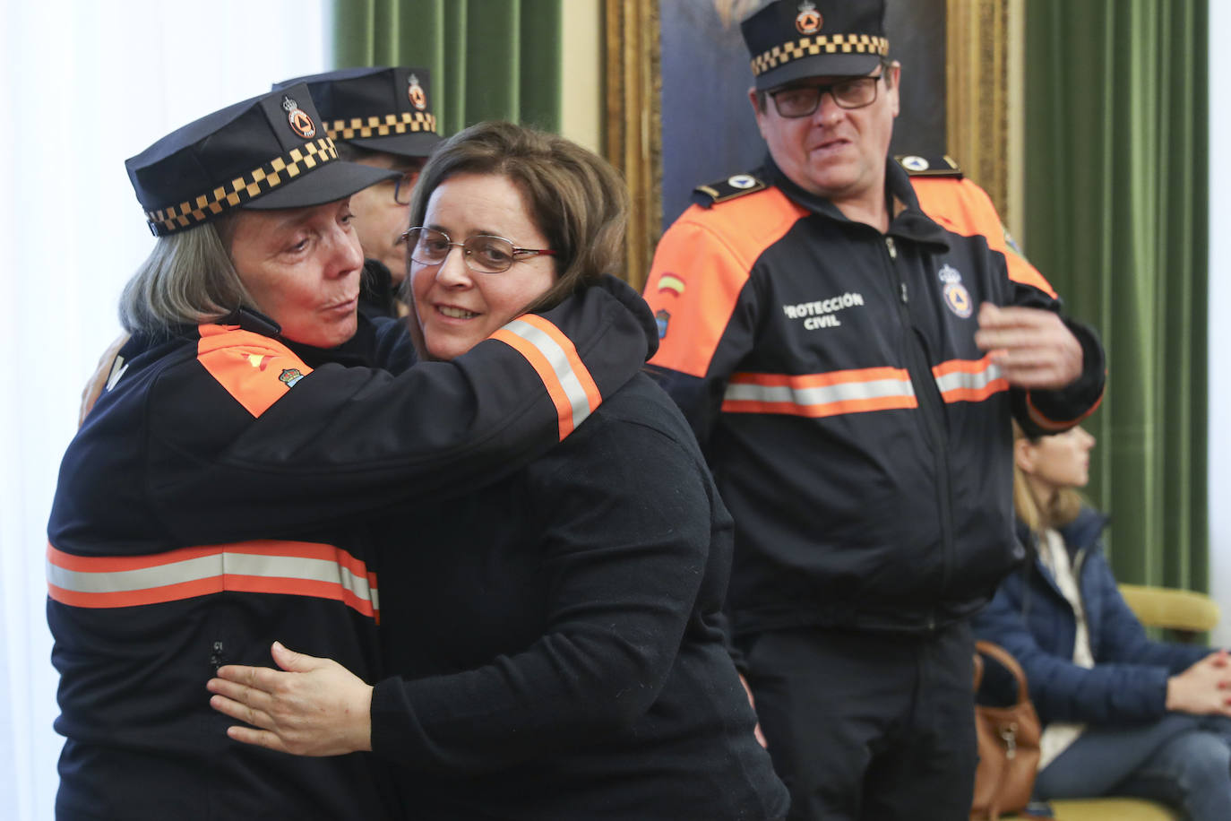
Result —
[{"label": "standing man in glasses, cap and Protecci\u00f3n Civil jacket", "polygon": [[664,235],[651,368],[735,517],[734,644],[790,817],[966,817],[969,619],[1022,559],[1009,420],[1076,425],[1102,348],[986,193],[889,159],[883,1],[777,0],[742,33],[768,156]]}]

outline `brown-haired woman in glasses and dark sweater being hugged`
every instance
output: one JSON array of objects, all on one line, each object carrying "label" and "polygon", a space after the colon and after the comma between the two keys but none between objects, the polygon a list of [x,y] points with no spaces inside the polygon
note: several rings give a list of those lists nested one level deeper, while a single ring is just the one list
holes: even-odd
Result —
[{"label": "brown-haired woman in glasses and dark sweater being hugged", "polygon": [[[443,143],[411,203],[420,347],[451,359],[617,270],[627,193],[599,158],[508,123]],[[510,479],[374,528],[369,687],[276,649],[228,666],[240,741],[373,750],[416,819],[782,819],[787,793],[723,638],[731,519],[676,406],[641,375]]]}]

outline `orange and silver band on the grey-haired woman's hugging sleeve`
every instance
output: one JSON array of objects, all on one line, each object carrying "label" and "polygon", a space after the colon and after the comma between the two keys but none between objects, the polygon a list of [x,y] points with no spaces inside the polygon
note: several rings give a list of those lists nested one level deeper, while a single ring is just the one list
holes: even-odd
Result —
[{"label": "orange and silver band on the grey-haired woman's hugging sleeve", "polygon": [[491,335],[511,346],[538,373],[555,405],[560,441],[572,433],[602,402],[598,385],[577,354],[572,340],[535,314],[523,314]]}]

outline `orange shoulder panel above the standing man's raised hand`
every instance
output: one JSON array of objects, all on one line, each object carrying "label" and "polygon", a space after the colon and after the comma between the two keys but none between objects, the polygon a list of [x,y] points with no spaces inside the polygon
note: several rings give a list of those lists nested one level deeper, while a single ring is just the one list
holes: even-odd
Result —
[{"label": "orange shoulder panel above the standing man's raised hand", "polygon": [[987,246],[1004,255],[1008,277],[1055,297],[1056,292],[1038,268],[1009,247],[1004,225],[987,192],[970,180],[911,177],[923,213],[943,228],[963,236],[981,235]]}]

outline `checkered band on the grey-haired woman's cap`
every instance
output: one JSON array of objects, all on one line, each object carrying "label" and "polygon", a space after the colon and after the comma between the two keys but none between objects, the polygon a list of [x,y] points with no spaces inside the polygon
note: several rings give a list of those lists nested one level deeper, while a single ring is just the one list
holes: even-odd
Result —
[{"label": "checkered band on the grey-haired woman's cap", "polygon": [[158,236],[166,236],[177,230],[199,225],[224,210],[243,206],[245,202],[268,193],[282,183],[336,159],[337,148],[334,146],[334,140],[327,137],[309,140],[213,191],[181,202],[178,206],[148,210],[145,219],[149,220],[150,229]]}]

